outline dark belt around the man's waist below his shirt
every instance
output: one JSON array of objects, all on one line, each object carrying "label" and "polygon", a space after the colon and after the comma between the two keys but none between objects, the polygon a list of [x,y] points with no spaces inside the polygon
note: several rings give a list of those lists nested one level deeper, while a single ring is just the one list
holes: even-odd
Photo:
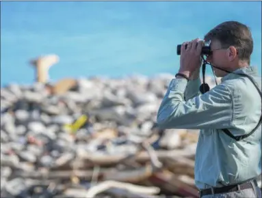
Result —
[{"label": "dark belt around the man's waist below his shirt", "polygon": [[245,182],[243,184],[233,184],[233,185],[230,185],[230,186],[223,186],[223,187],[220,187],[220,188],[213,188],[213,190],[212,190],[212,188],[207,188],[207,189],[199,191],[199,197],[202,197],[204,195],[213,195],[213,194],[220,194],[220,193],[231,193],[231,192],[234,192],[234,191],[237,191],[237,190],[244,190],[244,189],[248,189],[248,188],[253,188],[251,182],[254,182],[254,185],[258,186],[257,185],[257,180],[251,180],[251,181]]}]

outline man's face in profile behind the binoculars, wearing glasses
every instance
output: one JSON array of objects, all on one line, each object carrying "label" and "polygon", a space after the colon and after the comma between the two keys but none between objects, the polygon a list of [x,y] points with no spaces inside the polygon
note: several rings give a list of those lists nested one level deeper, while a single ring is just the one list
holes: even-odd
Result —
[{"label": "man's face in profile behind the binoculars, wearing glasses", "polygon": [[[218,40],[211,40],[210,42],[210,48],[213,52],[212,55],[207,56],[207,61],[211,63],[212,66],[216,66],[218,68],[222,68],[224,70],[227,70],[228,68],[228,59],[227,59],[227,49],[222,48],[222,45]],[[227,73],[219,70],[217,68],[213,68],[215,76],[217,77],[223,77]]]}]

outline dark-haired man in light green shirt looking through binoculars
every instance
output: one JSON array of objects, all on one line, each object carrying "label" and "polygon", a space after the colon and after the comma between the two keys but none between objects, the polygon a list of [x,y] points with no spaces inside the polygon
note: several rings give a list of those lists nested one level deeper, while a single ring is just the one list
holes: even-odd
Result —
[{"label": "dark-haired man in light green shirt looking through binoculars", "polygon": [[207,61],[215,75],[222,77],[221,83],[199,93],[204,41],[183,43],[179,74],[161,102],[157,124],[163,129],[200,129],[195,163],[200,197],[261,197],[254,180],[261,174],[261,124],[239,141],[222,130],[246,135],[260,122],[261,95],[248,77],[238,75],[248,74],[261,90],[261,78],[249,66],[252,35],[246,25],[228,21],[209,31],[205,42],[210,42],[213,51]]}]

